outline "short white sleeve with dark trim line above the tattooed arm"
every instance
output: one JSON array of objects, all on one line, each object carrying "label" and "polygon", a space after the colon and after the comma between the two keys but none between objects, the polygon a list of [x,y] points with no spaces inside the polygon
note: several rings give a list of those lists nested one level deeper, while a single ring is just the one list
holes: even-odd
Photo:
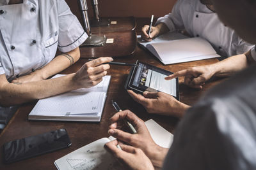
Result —
[{"label": "short white sleeve with dark trim line above the tattooed arm", "polygon": [[64,0],[58,0],[57,5],[60,27],[58,48],[61,52],[70,52],[81,45],[88,35]]}]

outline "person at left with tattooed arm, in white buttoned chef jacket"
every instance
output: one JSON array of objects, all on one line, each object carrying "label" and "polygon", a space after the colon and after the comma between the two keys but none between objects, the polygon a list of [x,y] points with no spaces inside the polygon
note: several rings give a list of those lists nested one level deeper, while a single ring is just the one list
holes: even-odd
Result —
[{"label": "person at left with tattooed arm, in white buttoned chef jacket", "polygon": [[[88,35],[64,0],[0,0],[0,129],[17,104],[102,81],[111,57],[86,62],[76,73],[49,79],[80,57]],[[62,52],[56,56],[57,48]]]}]

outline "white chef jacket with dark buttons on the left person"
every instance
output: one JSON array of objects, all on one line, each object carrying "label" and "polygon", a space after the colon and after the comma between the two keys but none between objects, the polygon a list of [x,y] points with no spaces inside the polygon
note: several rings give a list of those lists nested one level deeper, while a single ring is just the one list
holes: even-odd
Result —
[{"label": "white chef jacket with dark buttons on the left person", "polygon": [[0,74],[10,81],[31,73],[88,37],[65,0],[0,0]]}]

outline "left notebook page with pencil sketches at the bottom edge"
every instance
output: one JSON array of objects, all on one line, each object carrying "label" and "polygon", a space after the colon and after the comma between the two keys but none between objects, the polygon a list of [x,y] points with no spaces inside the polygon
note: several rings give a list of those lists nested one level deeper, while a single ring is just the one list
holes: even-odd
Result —
[{"label": "left notebook page with pencil sketches at the bottom edge", "polygon": [[102,138],[74,152],[61,157],[54,162],[57,169],[89,170],[89,169],[122,169],[113,156],[104,148],[110,140]]}]

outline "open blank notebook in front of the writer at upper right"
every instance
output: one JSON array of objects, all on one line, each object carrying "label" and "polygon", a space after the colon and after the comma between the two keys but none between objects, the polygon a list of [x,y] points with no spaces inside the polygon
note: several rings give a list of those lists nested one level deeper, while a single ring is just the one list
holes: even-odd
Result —
[{"label": "open blank notebook in front of the writer at upper right", "polygon": [[138,43],[153,53],[163,64],[220,57],[211,44],[202,38],[189,38],[179,32],[167,32],[150,42],[138,36]]}]

